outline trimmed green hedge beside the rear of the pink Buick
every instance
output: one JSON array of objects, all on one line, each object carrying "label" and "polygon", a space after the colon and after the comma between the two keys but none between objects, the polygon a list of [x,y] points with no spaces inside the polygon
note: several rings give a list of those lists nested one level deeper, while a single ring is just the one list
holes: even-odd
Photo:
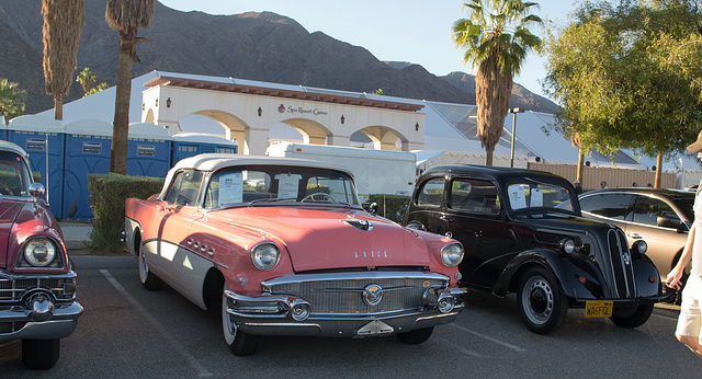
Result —
[{"label": "trimmed green hedge beside the rear of the pink Buick", "polygon": [[88,174],[90,208],[94,215],[89,248],[104,252],[124,249],[124,202],[128,197],[147,198],[161,192],[163,179],[120,174]]}]

